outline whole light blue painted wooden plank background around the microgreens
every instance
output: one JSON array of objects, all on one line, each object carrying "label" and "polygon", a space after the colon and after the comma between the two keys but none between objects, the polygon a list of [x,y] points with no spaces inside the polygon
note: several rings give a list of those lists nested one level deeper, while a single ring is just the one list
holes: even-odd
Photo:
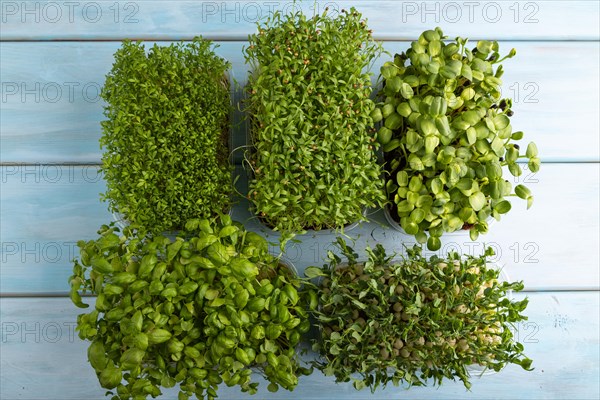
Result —
[{"label": "whole light blue painted wooden plank background around the microgreens", "polygon": [[[312,13],[326,6],[357,7],[392,53],[434,26],[450,37],[517,49],[506,62],[503,91],[514,98],[513,126],[540,149],[541,171],[515,180],[532,189],[535,204],[525,210],[515,200],[478,242],[451,235],[441,251],[477,254],[490,245],[509,276],[525,281],[519,296],[530,298],[529,321],[515,329],[535,371],[508,367],[474,379],[471,392],[447,382],[440,389],[375,394],[315,373],[293,393],[271,394],[263,385],[256,398],[600,398],[598,1],[309,1],[301,7]],[[112,218],[98,197],[104,191],[98,90],[120,40],[168,43],[201,34],[220,45],[217,53],[243,84],[241,50],[255,22],[291,7],[247,0],[0,1],[0,399],[104,398],[87,365],[87,344],[74,333],[79,310],[65,293],[76,241],[94,237]],[[245,138],[244,126],[236,128],[234,144]],[[239,155],[234,159],[243,177]],[[390,229],[380,210],[369,212],[373,221],[349,232],[358,248],[380,242],[401,250],[413,243]],[[234,216],[269,233],[243,200]],[[300,271],[321,263],[333,236],[301,239],[286,252]],[[247,396],[223,388],[220,397]]]}]

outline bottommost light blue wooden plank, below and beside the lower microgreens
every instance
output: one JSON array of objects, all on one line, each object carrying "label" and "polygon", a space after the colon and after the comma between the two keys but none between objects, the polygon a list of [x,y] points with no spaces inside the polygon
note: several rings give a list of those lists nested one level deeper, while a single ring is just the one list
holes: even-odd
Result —
[{"label": "bottommost light blue wooden plank, below and beside the lower microgreens", "polygon": [[[522,298],[522,295],[516,296]],[[529,321],[518,326],[518,337],[533,359],[533,372],[510,366],[498,374],[473,379],[467,392],[461,383],[445,382],[440,389],[390,386],[375,394],[335,384],[315,372],[302,377],[296,391],[266,390],[255,397],[223,387],[219,399],[597,399],[599,389],[599,293],[550,292],[528,294]],[[87,299],[93,301],[93,299]],[[92,303],[93,304],[93,303]],[[2,399],[104,399],[87,363],[87,342],[74,335],[81,311],[68,299],[2,299]],[[315,355],[309,353],[307,360]],[[161,399],[176,399],[166,391]]]}]

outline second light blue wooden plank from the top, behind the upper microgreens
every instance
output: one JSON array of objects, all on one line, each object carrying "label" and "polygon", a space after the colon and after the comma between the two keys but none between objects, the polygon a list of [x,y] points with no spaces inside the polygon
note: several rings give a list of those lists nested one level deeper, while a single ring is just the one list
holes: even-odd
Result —
[{"label": "second light blue wooden plank from the top, behind the upper microgreens", "polygon": [[[232,62],[240,85],[248,70],[244,44],[225,42],[216,50]],[[598,44],[501,46],[506,52],[512,47],[518,51],[506,62],[503,86],[504,94],[515,99],[514,128],[537,143],[544,161],[598,161]],[[115,42],[3,43],[0,161],[99,162],[103,115],[98,90],[118,47]],[[386,43],[392,54],[407,47],[408,42]],[[375,63],[374,71],[378,73],[386,57]],[[234,147],[244,144],[244,126],[236,126],[234,137]],[[238,161],[240,156],[236,153]]]}]

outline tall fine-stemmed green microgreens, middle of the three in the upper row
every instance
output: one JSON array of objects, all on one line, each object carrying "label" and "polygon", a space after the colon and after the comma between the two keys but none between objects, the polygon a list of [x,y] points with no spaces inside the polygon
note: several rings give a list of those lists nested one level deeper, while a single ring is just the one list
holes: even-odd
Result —
[{"label": "tall fine-stemmed green microgreens, middle of the three in the upper row", "polygon": [[361,18],[277,12],[249,38],[249,199],[280,231],[342,228],[385,200],[367,72],[381,48]]}]

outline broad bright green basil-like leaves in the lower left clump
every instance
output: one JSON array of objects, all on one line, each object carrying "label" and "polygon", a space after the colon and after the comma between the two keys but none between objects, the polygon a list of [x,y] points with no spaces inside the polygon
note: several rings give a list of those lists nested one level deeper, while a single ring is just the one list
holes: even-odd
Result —
[{"label": "broad bright green basil-like leaves in the lower left clump", "polygon": [[228,215],[191,220],[173,242],[133,225],[98,233],[78,243],[71,299],[87,307],[80,292],[98,296],[77,331],[113,399],[176,384],[179,399],[214,399],[221,382],[255,393],[253,371],[269,390],[292,390],[311,372],[296,352],[310,327],[300,280],[261,236]]}]

